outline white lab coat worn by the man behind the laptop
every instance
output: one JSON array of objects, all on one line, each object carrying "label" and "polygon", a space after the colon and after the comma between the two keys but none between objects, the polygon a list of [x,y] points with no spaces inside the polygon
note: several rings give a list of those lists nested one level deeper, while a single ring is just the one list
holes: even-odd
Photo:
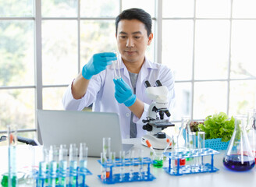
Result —
[{"label": "white lab coat worn by the man behind the laptop", "polygon": [[[120,72],[123,80],[132,87],[130,83],[129,72],[126,66],[123,64],[121,58],[119,58]],[[119,121],[121,125],[122,138],[130,138],[130,115],[131,111],[124,104],[119,104],[115,98],[115,84],[113,65],[108,65],[107,68],[98,73],[98,75],[92,76],[87,93],[81,99],[74,99],[71,93],[72,83],[69,85],[66,93],[63,95],[62,104],[66,110],[82,111],[84,107],[93,104],[93,111],[115,112],[119,114]],[[160,80],[162,85],[167,86],[169,90],[169,106],[172,106],[175,97],[174,93],[174,77],[172,71],[165,65],[152,63],[145,58],[142,65],[136,83],[136,96],[140,101],[144,102],[144,113],[141,118],[133,117],[133,122],[137,123],[137,137],[143,136],[146,131],[142,129],[145,125],[142,120],[146,119],[149,104],[151,99],[145,94],[146,87],[144,82],[146,80],[151,83],[151,86],[155,86],[155,81]],[[170,110],[171,108],[169,108]],[[172,111],[170,111],[172,113]],[[106,124],[107,125],[107,124]],[[100,129],[99,129],[100,130]]]}]

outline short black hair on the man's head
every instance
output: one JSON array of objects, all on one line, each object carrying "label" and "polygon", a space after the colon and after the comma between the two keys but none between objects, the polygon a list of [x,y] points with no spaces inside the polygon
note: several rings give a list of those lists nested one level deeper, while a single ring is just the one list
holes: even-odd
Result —
[{"label": "short black hair on the man's head", "polygon": [[116,17],[116,34],[117,34],[117,27],[119,21],[122,19],[137,19],[140,22],[144,23],[145,29],[147,30],[148,37],[151,34],[151,28],[152,28],[152,19],[148,12],[145,12],[143,9],[126,9],[122,13],[119,14],[119,16]]}]

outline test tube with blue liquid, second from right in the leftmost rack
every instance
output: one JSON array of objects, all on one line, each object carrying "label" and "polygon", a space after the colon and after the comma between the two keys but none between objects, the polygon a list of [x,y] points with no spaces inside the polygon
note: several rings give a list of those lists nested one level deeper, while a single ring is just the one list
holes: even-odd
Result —
[{"label": "test tube with blue liquid, second from right in the leftmost rack", "polygon": [[76,144],[70,144],[69,146],[69,186],[76,186],[76,178],[77,178],[77,154],[78,149]]}]

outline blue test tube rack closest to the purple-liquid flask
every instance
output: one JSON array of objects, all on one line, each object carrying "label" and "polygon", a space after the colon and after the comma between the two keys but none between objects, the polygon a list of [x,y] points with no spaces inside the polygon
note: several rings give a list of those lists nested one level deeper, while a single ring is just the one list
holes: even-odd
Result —
[{"label": "blue test tube rack closest to the purple-liquid flask", "polygon": [[[210,148],[204,149],[194,149],[194,150],[184,150],[180,152],[165,152],[163,153],[165,157],[169,158],[169,167],[163,168],[169,175],[187,175],[187,174],[197,174],[197,173],[205,173],[205,172],[215,172],[219,171],[218,168],[214,167],[214,155],[219,154],[218,151],[212,150]],[[211,156],[211,164],[203,163],[203,164],[194,164],[193,166],[190,164],[185,164],[184,166],[180,166],[180,159],[187,159],[193,161],[197,157],[203,158],[205,156]],[[173,166],[173,161],[176,163]]]}]

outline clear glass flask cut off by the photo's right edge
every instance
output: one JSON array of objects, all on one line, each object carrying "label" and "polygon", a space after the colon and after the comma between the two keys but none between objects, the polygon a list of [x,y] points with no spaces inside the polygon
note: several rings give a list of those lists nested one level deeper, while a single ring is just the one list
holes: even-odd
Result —
[{"label": "clear glass flask cut off by the photo's right edge", "polygon": [[247,135],[256,161],[256,109],[247,112]]}]

